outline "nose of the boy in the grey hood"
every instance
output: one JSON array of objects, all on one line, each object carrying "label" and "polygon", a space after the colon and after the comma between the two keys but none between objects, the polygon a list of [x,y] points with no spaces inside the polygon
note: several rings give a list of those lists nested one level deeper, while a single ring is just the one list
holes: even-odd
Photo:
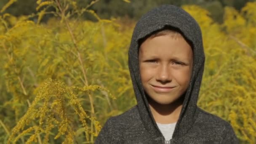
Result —
[{"label": "nose of the boy in the grey hood", "polygon": [[156,80],[162,84],[171,82],[171,69],[168,66],[160,66],[157,71]]}]

